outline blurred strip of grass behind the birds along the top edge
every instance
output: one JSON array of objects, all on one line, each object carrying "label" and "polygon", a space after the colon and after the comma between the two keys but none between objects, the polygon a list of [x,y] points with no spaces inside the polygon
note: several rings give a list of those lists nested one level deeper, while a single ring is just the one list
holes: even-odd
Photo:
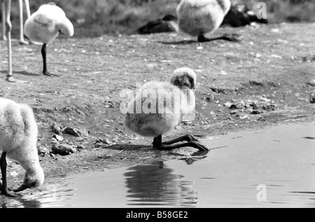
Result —
[{"label": "blurred strip of grass behind the birds along the top edge", "polygon": [[[31,0],[31,12],[49,1]],[[176,15],[180,0],[55,0],[73,22],[76,38],[103,34],[134,34],[138,27],[165,14]],[[244,2],[257,11],[260,0],[232,0]],[[270,23],[315,22],[315,0],[265,0]],[[18,1],[12,2],[13,37],[18,36]]]}]

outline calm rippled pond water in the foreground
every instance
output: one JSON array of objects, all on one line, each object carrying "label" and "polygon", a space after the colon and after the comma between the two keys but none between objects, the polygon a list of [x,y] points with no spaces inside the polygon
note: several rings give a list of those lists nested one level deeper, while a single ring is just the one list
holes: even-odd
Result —
[{"label": "calm rippled pond water in the foreground", "polygon": [[[2,207],[315,207],[315,123],[203,141],[209,153],[78,174]],[[182,148],[181,153],[186,151]]]}]

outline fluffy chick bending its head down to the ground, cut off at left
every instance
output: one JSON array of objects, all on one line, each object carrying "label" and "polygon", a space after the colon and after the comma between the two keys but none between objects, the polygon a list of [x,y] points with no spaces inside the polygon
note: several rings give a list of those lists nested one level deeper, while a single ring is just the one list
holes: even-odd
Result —
[{"label": "fluffy chick bending its head down to the ground, cut off at left", "polygon": [[39,164],[37,143],[37,124],[32,109],[26,104],[18,104],[10,99],[0,98],[0,158],[3,195],[10,193],[6,181],[6,155],[16,160],[25,169],[22,185],[13,190],[19,192],[27,188],[38,188],[43,184],[44,172]]}]

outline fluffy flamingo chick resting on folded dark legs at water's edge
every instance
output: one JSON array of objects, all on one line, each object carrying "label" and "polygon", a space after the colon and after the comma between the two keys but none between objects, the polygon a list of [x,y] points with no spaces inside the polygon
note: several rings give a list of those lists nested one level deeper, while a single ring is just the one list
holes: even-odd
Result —
[{"label": "fluffy flamingo chick resting on folded dark legs at water's edge", "polygon": [[[183,115],[195,109],[195,83],[195,72],[186,67],[176,69],[169,82],[145,83],[128,104],[125,127],[141,136],[153,137],[153,147],[157,149],[191,146],[200,151],[208,151],[206,146],[190,134],[162,142],[162,135],[173,130]],[[179,141],[187,142],[176,144]]]}]

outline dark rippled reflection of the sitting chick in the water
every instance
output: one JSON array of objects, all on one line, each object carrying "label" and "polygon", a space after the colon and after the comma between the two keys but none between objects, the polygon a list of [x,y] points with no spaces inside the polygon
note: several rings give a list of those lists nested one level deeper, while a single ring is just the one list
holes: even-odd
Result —
[{"label": "dark rippled reflection of the sitting chick in the water", "polygon": [[128,205],[167,205],[176,207],[195,207],[197,193],[193,181],[181,181],[181,175],[172,174],[163,162],[158,165],[137,165],[126,172]]}]

